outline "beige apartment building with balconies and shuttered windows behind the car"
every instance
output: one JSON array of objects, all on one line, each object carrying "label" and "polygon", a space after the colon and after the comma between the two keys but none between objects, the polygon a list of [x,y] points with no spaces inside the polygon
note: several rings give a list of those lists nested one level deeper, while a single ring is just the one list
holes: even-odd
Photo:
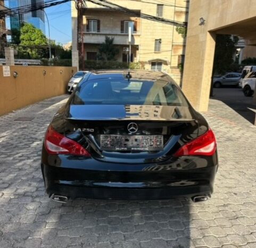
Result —
[{"label": "beige apartment building with balconies and shuttered windows behind the car", "polygon": [[[161,18],[186,22],[187,1],[140,1],[111,0],[111,3],[126,7],[137,14],[150,14]],[[178,34],[176,27],[166,23],[143,19],[135,14],[86,2],[83,16],[84,58],[97,60],[98,47],[105,36],[114,37],[119,49],[118,61],[128,62],[128,29],[131,27],[131,62],[140,62],[146,70],[163,71],[180,81],[179,64],[183,63],[185,38]],[[73,65],[78,66],[77,50],[77,11],[72,2],[72,48]]]}]

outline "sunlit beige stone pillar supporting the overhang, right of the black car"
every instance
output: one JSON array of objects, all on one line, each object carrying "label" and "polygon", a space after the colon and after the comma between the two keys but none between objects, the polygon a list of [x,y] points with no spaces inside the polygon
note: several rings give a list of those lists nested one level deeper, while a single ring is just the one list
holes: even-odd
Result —
[{"label": "sunlit beige stone pillar supporting the overhang, right of the black car", "polygon": [[[198,42],[199,40],[200,42]],[[215,51],[215,35],[205,32],[205,34],[187,37],[186,44],[182,89],[197,111],[207,111]]]}]

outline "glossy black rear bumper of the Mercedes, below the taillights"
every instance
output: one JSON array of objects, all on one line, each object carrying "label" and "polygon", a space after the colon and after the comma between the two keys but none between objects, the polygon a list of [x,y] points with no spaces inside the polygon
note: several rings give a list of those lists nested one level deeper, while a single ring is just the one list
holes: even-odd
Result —
[{"label": "glossy black rear bumper of the Mercedes, below the taillights", "polygon": [[[63,156],[56,156],[63,160]],[[53,155],[48,155],[47,161]],[[65,157],[65,156],[64,156]],[[216,158],[216,160],[214,160]],[[68,196],[71,199],[122,199],[122,200],[156,200],[172,197],[208,195],[213,192],[213,181],[217,171],[217,154],[208,158],[203,165],[195,163],[192,166],[172,169],[172,163],[165,164],[133,164],[137,170],[129,171],[129,164],[111,164],[87,159],[76,165],[71,159],[70,166],[52,166],[42,163],[46,192]],[[202,159],[202,158],[201,158]],[[187,160],[184,158],[184,160]],[[193,158],[194,160],[194,158]],[[56,161],[56,159],[55,159]],[[197,161],[197,160],[195,160]],[[198,160],[203,161],[203,160]],[[42,162],[45,162],[42,159]],[[81,161],[79,161],[81,162]],[[182,161],[180,161],[182,163]],[[103,166],[105,170],[103,170]],[[113,170],[113,167],[119,170]],[[123,170],[120,170],[123,168]],[[155,169],[155,170],[154,170]]]}]

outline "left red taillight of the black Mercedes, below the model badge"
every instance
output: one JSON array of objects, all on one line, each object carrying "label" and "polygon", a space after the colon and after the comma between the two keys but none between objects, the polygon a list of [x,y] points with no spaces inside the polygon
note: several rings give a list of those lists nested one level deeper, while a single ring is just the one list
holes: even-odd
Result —
[{"label": "left red taillight of the black Mercedes, below the model badge", "polygon": [[88,151],[80,144],[57,133],[49,126],[45,135],[45,148],[49,154],[73,154],[90,156]]}]

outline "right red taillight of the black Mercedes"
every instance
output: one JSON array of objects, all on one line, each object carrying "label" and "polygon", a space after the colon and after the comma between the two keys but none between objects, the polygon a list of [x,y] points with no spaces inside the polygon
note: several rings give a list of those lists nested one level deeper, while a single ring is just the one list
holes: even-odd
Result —
[{"label": "right red taillight of the black Mercedes", "polygon": [[213,131],[209,129],[205,134],[181,146],[174,156],[203,155],[211,156],[216,151],[217,144]]}]

